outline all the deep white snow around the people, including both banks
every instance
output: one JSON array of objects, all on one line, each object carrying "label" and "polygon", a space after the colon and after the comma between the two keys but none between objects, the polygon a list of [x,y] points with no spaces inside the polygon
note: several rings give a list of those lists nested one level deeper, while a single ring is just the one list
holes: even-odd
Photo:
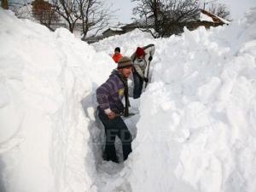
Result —
[{"label": "all the deep white snow around the people, including both banks", "polygon": [[[0,191],[256,191],[256,9],[210,31],[92,45],[2,9],[0,20]],[[103,161],[95,90],[116,67],[108,54],[146,44],[151,83],[125,119],[133,152]]]}]

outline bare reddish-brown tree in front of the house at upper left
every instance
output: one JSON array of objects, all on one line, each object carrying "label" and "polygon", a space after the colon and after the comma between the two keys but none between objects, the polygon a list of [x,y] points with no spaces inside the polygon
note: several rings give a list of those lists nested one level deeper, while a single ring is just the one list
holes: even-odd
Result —
[{"label": "bare reddish-brown tree in front of the house at upper left", "polygon": [[35,0],[33,2],[32,15],[51,31],[54,31],[54,29],[51,28],[52,22],[60,20],[60,16],[55,12],[55,7],[48,2],[44,2],[44,0]]}]

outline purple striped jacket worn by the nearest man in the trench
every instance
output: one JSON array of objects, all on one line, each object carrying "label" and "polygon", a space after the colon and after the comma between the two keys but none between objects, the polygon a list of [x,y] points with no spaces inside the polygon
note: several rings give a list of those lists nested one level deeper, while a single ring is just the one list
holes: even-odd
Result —
[{"label": "purple striped jacket worn by the nearest man in the trench", "polygon": [[123,113],[125,107],[122,102],[124,97],[125,86],[119,79],[118,70],[114,69],[109,79],[96,89],[96,98],[99,103],[100,110],[110,108],[114,113]]}]

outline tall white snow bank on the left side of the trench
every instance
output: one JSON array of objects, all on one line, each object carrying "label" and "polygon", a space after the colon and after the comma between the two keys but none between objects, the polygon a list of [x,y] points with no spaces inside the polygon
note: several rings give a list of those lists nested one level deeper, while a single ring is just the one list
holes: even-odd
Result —
[{"label": "tall white snow bank on the left side of the trench", "polygon": [[96,191],[92,94],[112,59],[66,29],[49,32],[3,9],[0,20],[0,183],[12,192]]}]

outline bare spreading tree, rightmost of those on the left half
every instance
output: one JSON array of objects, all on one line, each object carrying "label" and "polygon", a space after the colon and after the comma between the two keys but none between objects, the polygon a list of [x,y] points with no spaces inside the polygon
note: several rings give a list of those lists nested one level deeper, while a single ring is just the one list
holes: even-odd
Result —
[{"label": "bare spreading tree, rightmost of those on the left half", "polygon": [[86,38],[88,32],[97,32],[108,26],[108,21],[113,17],[114,11],[110,11],[101,0],[76,0],[79,5],[79,15],[82,21],[82,39]]}]

